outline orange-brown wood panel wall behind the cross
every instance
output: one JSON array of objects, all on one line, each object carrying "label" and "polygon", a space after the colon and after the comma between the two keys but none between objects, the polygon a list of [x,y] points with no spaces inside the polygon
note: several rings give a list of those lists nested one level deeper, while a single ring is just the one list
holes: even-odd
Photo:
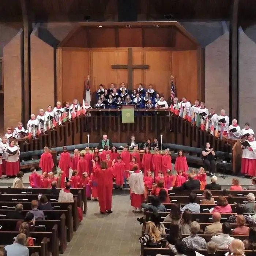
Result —
[{"label": "orange-brown wood panel wall behind the cross", "polygon": [[[128,63],[128,48],[61,48],[63,101],[82,100],[84,76],[90,74],[91,93],[99,84],[120,87],[128,82],[128,71],[111,68]],[[187,96],[191,102],[199,98],[197,50],[171,51],[169,48],[133,48],[133,64],[147,64],[148,70],[133,71],[133,88],[143,83],[170,97],[170,75],[174,75],[178,98]],[[58,88],[57,88],[58,90]]]}]

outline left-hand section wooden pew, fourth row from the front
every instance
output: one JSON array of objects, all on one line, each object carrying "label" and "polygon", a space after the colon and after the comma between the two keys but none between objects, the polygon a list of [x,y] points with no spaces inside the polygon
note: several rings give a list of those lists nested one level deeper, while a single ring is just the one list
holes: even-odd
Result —
[{"label": "left-hand section wooden pew, fourth row from the front", "polygon": [[[15,230],[17,219],[0,219],[1,231]],[[51,231],[53,226],[58,227],[58,238],[60,241],[59,251],[64,253],[67,248],[67,227],[65,225],[65,214],[61,214],[60,219],[56,220],[37,220],[35,221],[35,231]],[[45,226],[45,227],[40,227]]]}]

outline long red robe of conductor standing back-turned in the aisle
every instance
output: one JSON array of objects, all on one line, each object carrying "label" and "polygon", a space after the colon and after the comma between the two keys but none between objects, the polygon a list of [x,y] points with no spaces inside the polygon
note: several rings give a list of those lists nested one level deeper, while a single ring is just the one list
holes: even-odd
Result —
[{"label": "long red robe of conductor standing back-turned in the aisle", "polygon": [[101,212],[111,211],[114,171],[95,167],[94,174],[98,181],[99,209]]}]

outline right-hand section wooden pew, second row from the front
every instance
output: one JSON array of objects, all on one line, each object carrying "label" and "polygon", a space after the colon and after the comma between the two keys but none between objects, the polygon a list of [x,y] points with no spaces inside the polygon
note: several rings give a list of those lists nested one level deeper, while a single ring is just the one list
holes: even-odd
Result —
[{"label": "right-hand section wooden pew, second row from the front", "polygon": [[[150,202],[151,198],[154,196],[148,196],[147,202]],[[169,196],[171,203],[180,203],[180,204],[187,204],[189,203],[188,196]],[[218,196],[213,196],[215,203],[218,200]],[[196,197],[196,203],[201,203],[201,201],[204,199],[203,196],[197,196]],[[247,198],[244,196],[232,196],[228,197],[226,196],[227,201],[230,204],[234,204],[235,202],[238,204],[245,204],[248,203]]]}]

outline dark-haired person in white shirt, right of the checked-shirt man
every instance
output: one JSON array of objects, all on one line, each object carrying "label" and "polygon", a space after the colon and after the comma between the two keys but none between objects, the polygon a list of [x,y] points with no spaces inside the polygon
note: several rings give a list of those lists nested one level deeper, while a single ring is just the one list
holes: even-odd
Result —
[{"label": "dark-haired person in white shirt, right of the checked-shirt man", "polygon": [[218,250],[227,250],[229,245],[234,240],[234,237],[230,237],[231,225],[228,222],[224,222],[221,228],[221,234],[212,236],[211,242],[214,242],[217,245]]}]

